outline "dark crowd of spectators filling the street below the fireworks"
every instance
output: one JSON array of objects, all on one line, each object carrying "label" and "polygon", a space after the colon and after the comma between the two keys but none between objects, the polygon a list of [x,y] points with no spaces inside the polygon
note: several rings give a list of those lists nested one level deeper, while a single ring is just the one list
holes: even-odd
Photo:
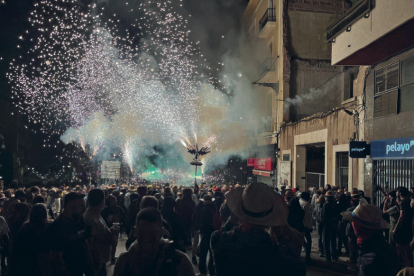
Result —
[{"label": "dark crowd of spectators filling the street below the fireworks", "polygon": [[[414,190],[263,183],[30,187],[0,193],[3,275],[306,275],[319,256],[359,275],[413,273]],[[125,235],[127,252],[116,258]],[[191,250],[187,257],[187,250]],[[300,258],[305,251],[305,262]],[[405,274],[401,274],[405,273]]]}]

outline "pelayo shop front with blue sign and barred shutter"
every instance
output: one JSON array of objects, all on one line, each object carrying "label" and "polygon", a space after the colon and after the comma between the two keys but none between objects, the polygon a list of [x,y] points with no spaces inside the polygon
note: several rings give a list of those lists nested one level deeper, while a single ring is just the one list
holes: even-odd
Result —
[{"label": "pelayo shop front with blue sign and barred shutter", "polygon": [[373,192],[376,204],[382,200],[379,187],[390,191],[414,183],[414,137],[371,141]]}]

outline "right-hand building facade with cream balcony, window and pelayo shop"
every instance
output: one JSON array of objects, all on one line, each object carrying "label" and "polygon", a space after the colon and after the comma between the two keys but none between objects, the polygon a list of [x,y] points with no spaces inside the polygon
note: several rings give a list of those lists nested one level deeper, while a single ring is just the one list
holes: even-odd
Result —
[{"label": "right-hand building facade with cream balcony, window and pelayo shop", "polygon": [[[360,0],[327,29],[332,64],[360,66],[364,190],[414,185],[414,2]],[[413,143],[411,144],[411,141]]]}]

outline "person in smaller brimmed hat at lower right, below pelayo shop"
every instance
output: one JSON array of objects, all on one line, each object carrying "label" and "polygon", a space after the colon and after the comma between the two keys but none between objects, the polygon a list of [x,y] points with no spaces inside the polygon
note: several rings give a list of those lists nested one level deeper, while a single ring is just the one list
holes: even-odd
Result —
[{"label": "person in smaller brimmed hat at lower right, below pelayo shop", "polygon": [[386,242],[383,229],[390,227],[382,218],[382,211],[361,200],[354,211],[341,215],[352,225],[359,247],[359,275],[394,276],[401,269],[398,257]]}]

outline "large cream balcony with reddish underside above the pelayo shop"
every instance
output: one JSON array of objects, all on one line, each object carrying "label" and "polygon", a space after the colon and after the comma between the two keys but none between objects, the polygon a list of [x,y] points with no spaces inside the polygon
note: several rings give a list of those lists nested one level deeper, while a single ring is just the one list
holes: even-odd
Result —
[{"label": "large cream balcony with reddish underside above the pelayo shop", "polygon": [[326,30],[332,65],[372,65],[414,45],[413,1],[360,0]]}]

